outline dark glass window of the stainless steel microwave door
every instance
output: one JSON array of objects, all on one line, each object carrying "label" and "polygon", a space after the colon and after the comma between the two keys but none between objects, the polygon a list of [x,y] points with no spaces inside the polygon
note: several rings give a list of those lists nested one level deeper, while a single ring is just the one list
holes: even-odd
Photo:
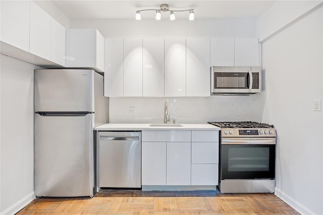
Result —
[{"label": "dark glass window of the stainless steel microwave door", "polygon": [[248,89],[249,73],[215,72],[214,89]]}]

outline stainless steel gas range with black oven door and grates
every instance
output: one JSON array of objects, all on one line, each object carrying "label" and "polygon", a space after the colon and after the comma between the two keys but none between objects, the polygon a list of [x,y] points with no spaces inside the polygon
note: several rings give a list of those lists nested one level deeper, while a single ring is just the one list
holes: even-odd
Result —
[{"label": "stainless steel gas range with black oven door and grates", "polygon": [[273,193],[276,131],[257,122],[208,122],[221,128],[221,193]]}]

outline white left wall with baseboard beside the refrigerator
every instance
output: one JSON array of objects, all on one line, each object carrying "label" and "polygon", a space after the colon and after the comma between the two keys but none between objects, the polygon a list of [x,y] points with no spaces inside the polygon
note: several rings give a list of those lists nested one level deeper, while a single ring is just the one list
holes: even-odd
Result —
[{"label": "white left wall with baseboard beside the refrigerator", "polygon": [[1,214],[34,198],[34,65],[1,55]]}]

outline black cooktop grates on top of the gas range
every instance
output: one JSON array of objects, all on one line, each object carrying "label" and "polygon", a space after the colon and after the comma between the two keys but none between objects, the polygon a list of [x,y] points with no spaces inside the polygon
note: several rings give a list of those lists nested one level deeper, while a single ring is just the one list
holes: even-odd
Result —
[{"label": "black cooktop grates on top of the gas range", "polygon": [[208,122],[220,128],[274,128],[273,125],[258,122]]}]

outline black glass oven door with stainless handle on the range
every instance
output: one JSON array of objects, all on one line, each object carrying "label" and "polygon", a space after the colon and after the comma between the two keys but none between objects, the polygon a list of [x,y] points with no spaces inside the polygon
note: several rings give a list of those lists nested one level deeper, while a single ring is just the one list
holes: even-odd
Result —
[{"label": "black glass oven door with stainless handle on the range", "polygon": [[223,179],[275,179],[276,138],[222,138]]}]

